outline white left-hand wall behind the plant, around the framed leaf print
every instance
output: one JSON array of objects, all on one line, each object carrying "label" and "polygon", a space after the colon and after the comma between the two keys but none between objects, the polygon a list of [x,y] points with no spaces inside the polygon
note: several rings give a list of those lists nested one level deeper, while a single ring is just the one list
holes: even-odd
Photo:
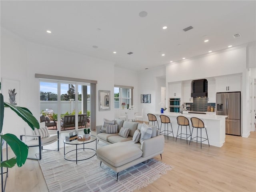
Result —
[{"label": "white left-hand wall behind the plant, around the framed leaf print", "polygon": [[[29,100],[23,96],[26,94],[26,63],[27,49],[26,41],[7,32],[1,28],[1,78],[20,81],[20,93],[16,97],[20,98],[20,106],[29,105]],[[25,82],[25,83],[24,83]],[[4,88],[2,84],[2,89]],[[35,113],[33,108],[30,108]],[[39,117],[38,117],[39,118]],[[16,134],[20,138],[20,134],[24,133],[26,123],[19,118],[12,110],[4,109],[3,132]]]}]

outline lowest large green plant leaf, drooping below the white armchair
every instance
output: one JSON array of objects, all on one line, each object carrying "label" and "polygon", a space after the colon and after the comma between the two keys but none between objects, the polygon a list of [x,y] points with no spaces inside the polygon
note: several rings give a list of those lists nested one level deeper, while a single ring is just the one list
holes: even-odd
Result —
[{"label": "lowest large green plant leaf, drooping below the white armchair", "polygon": [[17,166],[21,167],[27,159],[28,156],[28,146],[19,140],[16,135],[6,133],[1,135],[1,137],[8,143],[12,151],[16,155]]}]

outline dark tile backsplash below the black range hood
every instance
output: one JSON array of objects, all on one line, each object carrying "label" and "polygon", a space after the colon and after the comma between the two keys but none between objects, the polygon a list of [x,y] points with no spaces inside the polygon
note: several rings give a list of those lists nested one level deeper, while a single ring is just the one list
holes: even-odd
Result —
[{"label": "dark tile backsplash below the black range hood", "polygon": [[215,103],[208,103],[207,97],[194,97],[193,103],[186,103],[190,104],[191,111],[199,111],[199,112],[207,112],[207,106],[215,107]]}]

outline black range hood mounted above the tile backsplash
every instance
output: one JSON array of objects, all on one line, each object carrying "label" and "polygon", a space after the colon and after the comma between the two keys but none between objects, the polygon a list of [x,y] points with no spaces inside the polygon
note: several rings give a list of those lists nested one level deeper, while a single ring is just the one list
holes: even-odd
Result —
[{"label": "black range hood mounted above the tile backsplash", "polygon": [[191,97],[207,97],[207,88],[206,88],[207,80],[200,79],[194,80],[193,82],[193,92],[191,93]]}]

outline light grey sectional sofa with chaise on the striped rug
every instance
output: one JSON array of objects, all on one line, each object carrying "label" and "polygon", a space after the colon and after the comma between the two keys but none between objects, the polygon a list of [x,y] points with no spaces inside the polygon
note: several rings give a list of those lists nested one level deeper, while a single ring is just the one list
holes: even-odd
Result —
[{"label": "light grey sectional sofa with chaise on the striped rug", "polygon": [[140,142],[132,141],[134,132],[141,130],[142,124],[138,122],[128,122],[124,120],[115,120],[118,124],[118,131],[123,128],[129,128],[130,133],[128,138],[123,138],[118,133],[107,134],[100,132],[101,126],[96,127],[96,134],[98,141],[105,142],[109,145],[103,146],[96,150],[97,158],[100,160],[100,166],[103,162],[112,170],[118,172],[125,170],[138,163],[144,162],[156,155],[161,155],[164,152],[164,136],[160,135],[156,126],[152,127],[152,138]]}]

